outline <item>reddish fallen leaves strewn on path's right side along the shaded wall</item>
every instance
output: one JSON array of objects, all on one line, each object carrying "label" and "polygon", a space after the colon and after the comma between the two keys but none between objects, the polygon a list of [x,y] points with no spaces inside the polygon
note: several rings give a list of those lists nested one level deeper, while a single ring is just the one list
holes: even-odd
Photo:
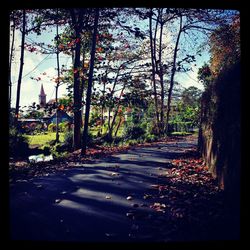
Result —
[{"label": "reddish fallen leaves strewn on path's right side along the shaded wall", "polygon": [[[171,165],[171,167],[170,167]],[[143,199],[152,212],[130,210],[130,236],[134,240],[189,241],[221,239],[227,220],[223,191],[197,157],[176,159],[162,169],[158,183]]]}]

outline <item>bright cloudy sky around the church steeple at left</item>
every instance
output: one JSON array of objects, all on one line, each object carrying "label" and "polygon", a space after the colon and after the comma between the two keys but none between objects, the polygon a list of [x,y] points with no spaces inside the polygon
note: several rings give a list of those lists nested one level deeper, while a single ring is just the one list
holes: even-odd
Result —
[{"label": "bright cloudy sky around the church steeple at left", "polygon": [[[12,68],[12,106],[14,107],[16,102],[16,88],[17,88],[17,79],[20,65],[20,48],[21,44],[21,34],[20,32],[16,33],[15,36],[15,57]],[[31,38],[34,41],[49,41],[53,38],[53,34],[47,33],[42,35],[42,37],[37,37],[35,35],[29,35],[27,38]],[[31,53],[27,50],[24,52],[24,68],[23,68],[23,78],[21,85],[21,97],[20,97],[20,106],[28,106],[33,102],[38,103],[38,95],[40,93],[41,84],[43,84],[45,94],[47,95],[47,101],[55,98],[55,82],[51,81],[53,77],[57,76],[56,71],[56,55],[43,55],[40,53]],[[66,55],[60,56],[60,65],[68,65],[71,63],[71,57]],[[45,75],[45,73],[46,75]],[[32,80],[30,77],[41,77],[41,81]],[[58,90],[59,97],[66,94],[66,86],[61,85]]]}]

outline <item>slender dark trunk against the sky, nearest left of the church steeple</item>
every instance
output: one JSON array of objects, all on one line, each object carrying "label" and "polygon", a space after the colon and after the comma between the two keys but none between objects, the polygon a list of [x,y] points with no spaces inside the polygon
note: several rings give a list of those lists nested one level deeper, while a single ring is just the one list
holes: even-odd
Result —
[{"label": "slender dark trunk against the sky, nearest left of the church steeple", "polygon": [[18,126],[19,103],[20,103],[21,83],[22,83],[23,65],[24,65],[25,26],[26,26],[26,11],[23,10],[23,30],[22,30],[22,41],[21,41],[21,56],[20,56],[19,76],[18,76],[18,82],[17,82],[16,112],[15,112],[15,120],[14,120],[14,124],[15,124],[16,128]]}]

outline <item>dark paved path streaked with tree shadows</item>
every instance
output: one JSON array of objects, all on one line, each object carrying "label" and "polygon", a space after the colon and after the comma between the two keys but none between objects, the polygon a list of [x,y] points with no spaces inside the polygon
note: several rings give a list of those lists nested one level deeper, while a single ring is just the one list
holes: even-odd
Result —
[{"label": "dark paved path streaked with tree shadows", "polygon": [[[183,234],[180,228],[185,224],[185,230],[191,229],[193,224],[181,218],[173,220],[165,212],[170,200],[164,200],[152,187],[166,184],[167,178],[162,177],[173,167],[171,160],[185,156],[196,145],[196,139],[183,138],[138,147],[91,164],[74,163],[72,169],[12,183],[11,238],[83,242],[192,240],[193,236]],[[152,209],[152,204],[157,209]],[[205,234],[196,237],[203,239]]]}]

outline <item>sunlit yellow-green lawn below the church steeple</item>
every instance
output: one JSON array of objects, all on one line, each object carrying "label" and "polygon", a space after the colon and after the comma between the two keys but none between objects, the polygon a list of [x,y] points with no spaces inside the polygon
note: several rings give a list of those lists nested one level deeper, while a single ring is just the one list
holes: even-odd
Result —
[{"label": "sunlit yellow-green lawn below the church steeple", "polygon": [[[65,133],[59,133],[59,140],[61,142],[64,141]],[[26,138],[29,140],[29,145],[45,145],[48,144],[50,141],[56,139],[55,132],[48,132],[48,134],[40,134],[40,135],[25,135]]]}]

